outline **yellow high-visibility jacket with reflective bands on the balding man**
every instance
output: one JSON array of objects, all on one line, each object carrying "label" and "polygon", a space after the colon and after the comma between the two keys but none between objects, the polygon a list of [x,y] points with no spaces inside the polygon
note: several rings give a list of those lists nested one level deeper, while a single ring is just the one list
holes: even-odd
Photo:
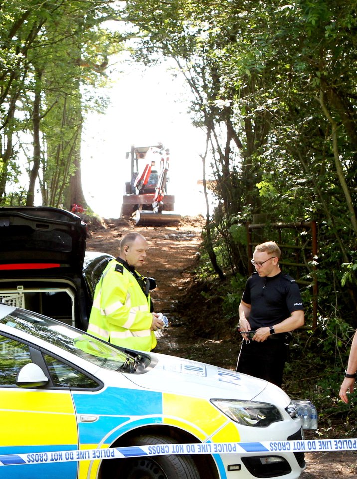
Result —
[{"label": "yellow high-visibility jacket with reflective bands on the balding man", "polygon": [[135,276],[113,259],[95,288],[87,332],[116,346],[150,351],[156,346],[152,321],[150,296]]}]

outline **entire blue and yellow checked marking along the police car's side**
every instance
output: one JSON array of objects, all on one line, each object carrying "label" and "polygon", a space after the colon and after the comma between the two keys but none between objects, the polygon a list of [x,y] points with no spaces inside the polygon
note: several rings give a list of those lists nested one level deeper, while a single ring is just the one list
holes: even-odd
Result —
[{"label": "entire blue and yellow checked marking along the police car's side", "polygon": [[[208,400],[190,396],[107,387],[73,393],[9,388],[2,389],[0,397],[0,404],[7,405],[0,409],[6,431],[0,435],[0,455],[7,465],[13,454],[18,456],[19,462],[11,463],[17,479],[94,479],[103,457],[89,457],[88,450],[105,451],[126,432],[153,424],[188,431],[201,442],[240,439],[237,427]],[[74,459],[78,451],[79,460]],[[31,458],[29,463],[26,459],[33,465],[31,476],[27,468],[17,471],[22,455]],[[216,462],[223,468],[219,456]],[[7,479],[6,469],[0,468],[0,479]]]}]

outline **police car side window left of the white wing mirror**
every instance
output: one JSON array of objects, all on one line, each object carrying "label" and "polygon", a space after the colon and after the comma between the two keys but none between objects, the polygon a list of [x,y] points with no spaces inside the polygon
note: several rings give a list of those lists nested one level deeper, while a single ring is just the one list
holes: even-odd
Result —
[{"label": "police car side window left of the white wing mirror", "polygon": [[30,362],[26,344],[0,336],[0,386],[15,386],[19,370]]}]

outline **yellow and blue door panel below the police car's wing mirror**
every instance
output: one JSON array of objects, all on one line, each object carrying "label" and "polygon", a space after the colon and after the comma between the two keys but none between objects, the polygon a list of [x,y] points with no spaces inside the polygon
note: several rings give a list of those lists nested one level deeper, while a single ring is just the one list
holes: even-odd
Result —
[{"label": "yellow and blue door panel below the police car's wing mirror", "polygon": [[[78,449],[77,418],[70,391],[6,388],[0,392],[0,404],[0,455]],[[76,477],[76,463],[60,463],[57,468],[56,474],[68,479]],[[29,475],[29,471],[15,468],[14,477],[54,477],[49,465],[39,464],[32,469]],[[8,479],[6,468],[0,468],[0,478]]]}]

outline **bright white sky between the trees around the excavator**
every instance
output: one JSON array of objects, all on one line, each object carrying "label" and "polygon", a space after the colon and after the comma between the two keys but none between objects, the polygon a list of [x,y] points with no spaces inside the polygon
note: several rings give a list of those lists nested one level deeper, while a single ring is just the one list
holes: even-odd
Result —
[{"label": "bright white sky between the trees around the excavator", "polygon": [[191,125],[183,78],[173,78],[163,66],[121,68],[125,71],[113,74],[108,110],[91,113],[83,131],[82,184],[88,204],[102,217],[118,218],[125,182],[130,181],[126,152],[131,145],[161,142],[170,148],[168,194],[175,195],[175,212],[205,214],[203,188],[197,185],[205,135]]}]

